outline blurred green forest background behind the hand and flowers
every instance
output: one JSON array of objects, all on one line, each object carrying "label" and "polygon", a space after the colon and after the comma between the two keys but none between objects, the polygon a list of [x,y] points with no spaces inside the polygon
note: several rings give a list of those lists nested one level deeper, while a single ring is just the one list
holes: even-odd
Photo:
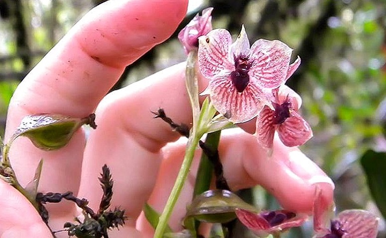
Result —
[{"label": "blurred green forest background behind the hand and flowers", "polygon": [[[0,13],[1,2],[5,1],[0,0]],[[12,14],[5,17],[2,13],[0,20],[0,136],[17,82],[81,15],[101,1],[21,2],[27,45],[17,41]],[[245,24],[252,42],[278,38],[300,55],[302,64],[288,84],[302,96],[302,114],[314,131],[302,150],[336,183],[338,211],[365,208],[378,213],[358,160],[368,148],[386,150],[385,143],[380,143],[382,127],[375,120],[386,97],[385,1],[204,0],[179,29],[207,6],[215,7],[214,27],[228,28],[236,36]],[[185,57],[175,33],[128,67],[115,88]]]}]

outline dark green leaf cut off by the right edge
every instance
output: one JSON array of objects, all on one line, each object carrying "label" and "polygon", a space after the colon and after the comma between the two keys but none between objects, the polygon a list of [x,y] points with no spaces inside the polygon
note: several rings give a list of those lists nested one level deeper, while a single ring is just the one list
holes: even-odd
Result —
[{"label": "dark green leaf cut off by the right edge", "polygon": [[368,150],[361,158],[370,193],[386,218],[386,153]]}]

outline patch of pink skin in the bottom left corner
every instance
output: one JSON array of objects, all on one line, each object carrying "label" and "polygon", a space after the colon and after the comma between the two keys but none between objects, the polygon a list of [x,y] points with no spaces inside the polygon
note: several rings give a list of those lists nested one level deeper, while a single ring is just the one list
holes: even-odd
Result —
[{"label": "patch of pink skin in the bottom left corner", "polygon": [[51,237],[32,205],[17,190],[0,179],[0,237]]}]

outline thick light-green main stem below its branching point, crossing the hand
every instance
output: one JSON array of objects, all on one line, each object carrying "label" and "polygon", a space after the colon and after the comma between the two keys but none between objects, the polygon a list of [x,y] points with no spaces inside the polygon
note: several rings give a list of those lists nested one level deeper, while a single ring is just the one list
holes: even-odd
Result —
[{"label": "thick light-green main stem below its branching point, crossing the hand", "polygon": [[165,208],[159,217],[159,222],[157,228],[155,229],[154,238],[162,238],[163,233],[166,229],[167,222],[169,221],[170,215],[173,211],[173,208],[178,200],[178,197],[181,193],[182,187],[184,186],[186,177],[189,174],[190,167],[194,158],[194,152],[196,151],[198,141],[200,140],[201,135],[192,135],[188,144],[186,145],[185,157],[182,162],[180,171],[178,172],[176,182],[174,183],[173,189],[170,193],[170,196],[166,202]]}]

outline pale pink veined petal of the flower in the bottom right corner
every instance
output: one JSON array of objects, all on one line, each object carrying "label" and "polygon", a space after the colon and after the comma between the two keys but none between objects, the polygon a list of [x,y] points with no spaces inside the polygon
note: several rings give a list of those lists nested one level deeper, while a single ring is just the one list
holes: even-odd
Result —
[{"label": "pale pink veined petal of the flower in the bottom right corner", "polygon": [[376,238],[379,218],[363,210],[347,210],[338,215],[338,221],[346,232],[343,238]]}]

